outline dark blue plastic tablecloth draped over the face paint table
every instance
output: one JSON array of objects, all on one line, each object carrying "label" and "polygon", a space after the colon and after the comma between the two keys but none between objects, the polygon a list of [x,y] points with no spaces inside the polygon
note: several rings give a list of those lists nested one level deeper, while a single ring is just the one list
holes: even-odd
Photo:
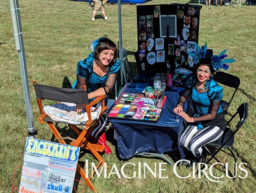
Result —
[{"label": "dark blue plastic tablecloth draped over the face paint table", "polygon": [[[134,85],[127,86],[124,92],[141,94],[141,89]],[[109,118],[117,132],[117,148],[120,158],[129,159],[137,153],[180,150],[178,136],[182,132],[182,118],[173,112],[180,97],[178,92],[165,91],[167,99],[158,122],[134,121]]]}]

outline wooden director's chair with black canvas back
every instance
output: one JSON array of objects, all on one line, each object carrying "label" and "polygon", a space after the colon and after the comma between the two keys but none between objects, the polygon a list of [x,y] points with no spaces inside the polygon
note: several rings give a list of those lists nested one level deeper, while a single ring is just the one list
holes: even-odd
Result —
[{"label": "wooden director's chair with black canvas back", "polygon": [[[105,106],[105,97],[106,96],[99,96],[96,97],[95,100],[93,100],[91,103],[89,102],[88,95],[87,95],[87,89],[86,86],[83,86],[83,89],[72,89],[72,88],[58,88],[58,87],[53,87],[53,86],[45,86],[45,85],[38,85],[35,81],[33,81],[33,86],[35,89],[35,94],[37,97],[37,104],[40,110],[40,116],[38,116],[38,121],[43,124],[44,122],[47,123],[48,127],[54,134],[55,138],[58,140],[59,143],[62,144],[67,144],[66,140],[71,140],[69,143],[70,145],[76,146],[76,147],[82,147],[87,150],[89,150],[95,158],[98,160],[98,164],[96,168],[98,169],[100,165],[104,165],[105,161],[104,159],[100,156],[98,152],[102,152],[105,148],[103,145],[97,145],[89,142],[87,139],[88,136],[91,134],[95,126],[97,125],[100,117],[104,112],[107,110],[107,107]],[[79,124],[82,126],[78,127],[78,125],[74,124],[69,124],[69,126],[72,128],[72,130],[75,132],[77,137],[71,138],[70,136],[61,136],[60,132],[56,128],[53,122],[60,122],[61,121],[54,121],[52,120],[44,111],[43,109],[43,100],[50,100],[50,101],[61,101],[61,102],[66,102],[66,103],[81,103],[84,104],[84,108],[87,112],[88,116],[88,121],[86,121],[83,124]],[[99,112],[99,116],[97,119],[92,120],[91,117],[91,107],[96,105],[97,103],[102,103],[102,108]],[[63,123],[63,122],[62,122]],[[66,123],[66,122],[65,122]],[[66,123],[67,124],[67,123]],[[77,165],[77,171],[80,173],[82,176],[83,180],[87,183],[90,189],[93,191],[96,191],[95,186],[91,182],[91,178],[95,174],[95,170],[93,173],[89,176],[88,174],[86,175],[85,171],[83,170],[82,166],[78,163]]]}]

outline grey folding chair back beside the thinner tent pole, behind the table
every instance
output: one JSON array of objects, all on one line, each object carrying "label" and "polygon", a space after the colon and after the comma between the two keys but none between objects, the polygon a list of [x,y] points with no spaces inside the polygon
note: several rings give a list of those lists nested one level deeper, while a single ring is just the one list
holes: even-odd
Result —
[{"label": "grey folding chair back beside the thinner tent pole, behind the table", "polygon": [[119,51],[119,58],[121,61],[122,73],[124,75],[125,83],[130,83],[132,82],[132,75],[131,75],[130,64],[128,62],[127,56],[128,56],[127,50],[125,48],[122,48]]}]

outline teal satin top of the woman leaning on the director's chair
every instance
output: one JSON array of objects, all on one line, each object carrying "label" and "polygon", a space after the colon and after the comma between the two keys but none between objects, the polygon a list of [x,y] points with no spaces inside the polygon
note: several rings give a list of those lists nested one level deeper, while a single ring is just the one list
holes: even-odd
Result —
[{"label": "teal satin top of the woman leaning on the director's chair", "polygon": [[[82,78],[87,78],[87,89],[89,93],[97,90],[100,87],[103,87],[106,83],[108,75],[117,74],[121,66],[121,62],[118,59],[115,63],[111,62],[109,64],[109,71],[107,72],[107,74],[103,77],[100,77],[95,72],[93,72],[93,61],[93,53],[90,53],[87,58],[78,62],[76,68],[76,74],[78,76]],[[75,86],[75,88],[77,88],[77,85]]]}]

